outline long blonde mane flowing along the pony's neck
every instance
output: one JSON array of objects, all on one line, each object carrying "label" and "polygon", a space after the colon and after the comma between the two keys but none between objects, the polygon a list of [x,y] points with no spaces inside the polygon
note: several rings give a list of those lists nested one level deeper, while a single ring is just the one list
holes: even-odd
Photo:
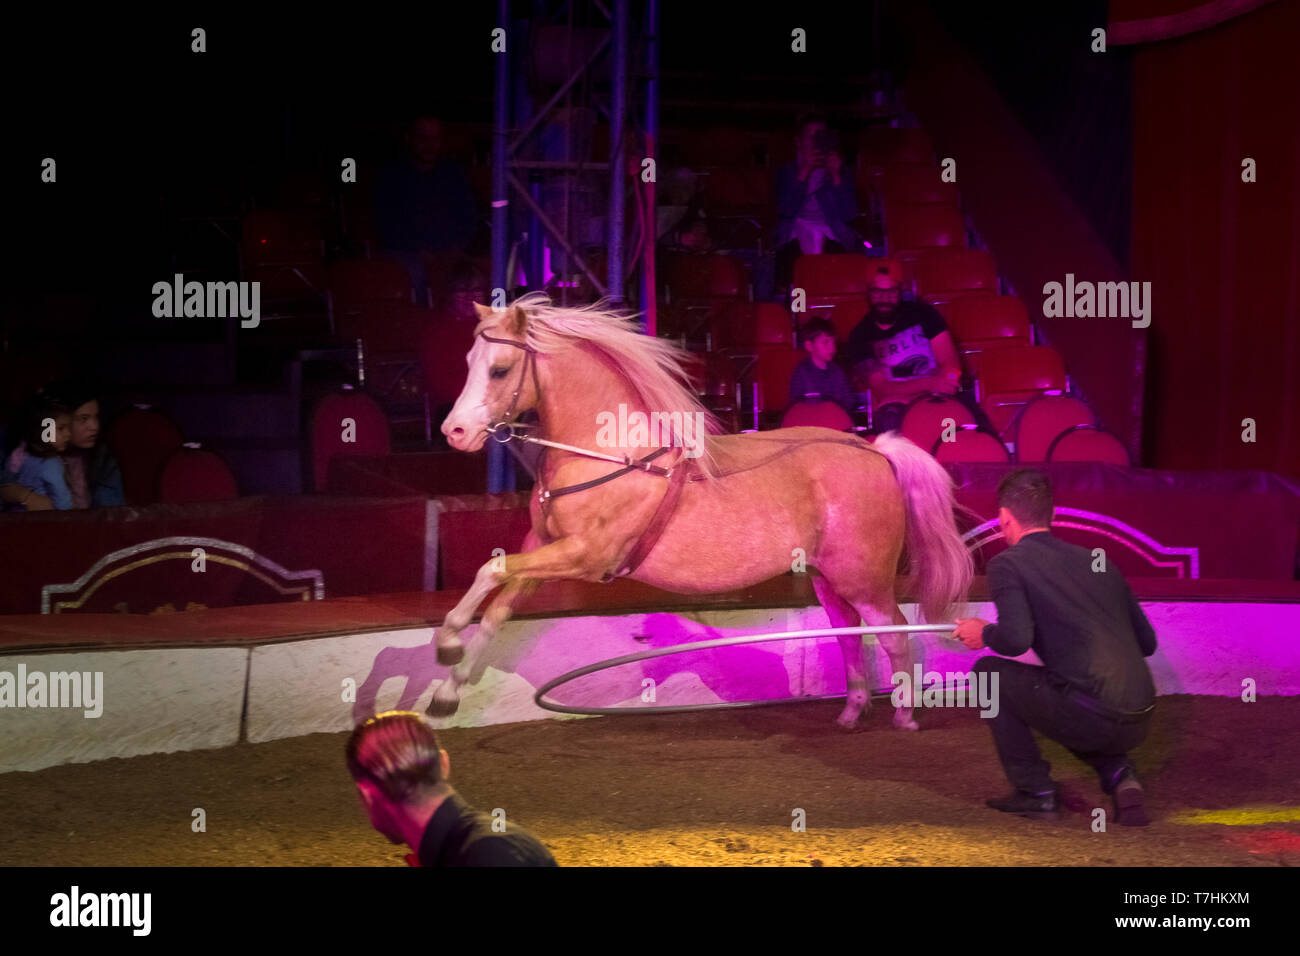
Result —
[{"label": "long blonde mane flowing along the pony's neck", "polygon": [[[694,462],[703,475],[716,477],[712,436],[722,432],[722,425],[690,386],[684,365],[689,352],[670,339],[646,336],[636,315],[616,312],[603,300],[590,306],[559,307],[545,293],[529,293],[510,308],[524,310],[524,341],[541,354],[551,355],[581,343],[603,350],[641,395],[647,412],[703,414],[707,436],[703,451]],[[508,310],[485,316],[474,334],[500,325],[507,316]]]}]

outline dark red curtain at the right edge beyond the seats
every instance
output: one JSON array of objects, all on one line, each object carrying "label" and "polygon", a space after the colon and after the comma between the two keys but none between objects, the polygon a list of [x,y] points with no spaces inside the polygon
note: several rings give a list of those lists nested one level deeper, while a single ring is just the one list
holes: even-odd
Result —
[{"label": "dark red curtain at the right edge beyond the seats", "polygon": [[1135,49],[1132,278],[1152,282],[1157,468],[1300,475],[1296,36],[1300,4],[1274,3]]}]

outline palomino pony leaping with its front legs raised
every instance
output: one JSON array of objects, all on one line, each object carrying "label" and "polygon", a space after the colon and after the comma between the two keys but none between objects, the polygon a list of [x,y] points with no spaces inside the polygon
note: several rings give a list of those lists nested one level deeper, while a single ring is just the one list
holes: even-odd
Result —
[{"label": "palomino pony leaping with its front legs raised", "polygon": [[[533,441],[514,423],[536,408],[534,436],[549,447],[537,470],[525,550],[478,568],[434,637],[438,662],[456,666],[434,692],[430,714],[456,710],[471,663],[460,632],[498,585],[504,587],[477,635],[484,644],[541,581],[625,575],[699,594],[775,578],[801,558],[833,627],[855,627],[859,618],[867,626],[902,624],[894,585],[906,542],[924,617],[952,619],[972,575],[953,483],[906,438],[889,433],[872,445],[824,428],[785,428],[692,441],[692,421],[706,421],[710,431],[716,423],[689,388],[688,354],[675,345],[599,304],[558,308],[537,293],[507,308],[476,308],[481,321],[465,359],[468,377],[443,434],[462,451],[476,451],[489,437]],[[620,406],[633,427],[611,427],[624,414]],[[638,429],[633,412],[642,421],[671,423],[670,436],[654,441],[660,429]],[[838,640],[848,701],[837,723],[852,730],[870,706],[866,661],[861,635]],[[894,672],[910,674],[909,636],[881,633],[879,641]],[[916,730],[911,705],[904,696],[896,727]]]}]

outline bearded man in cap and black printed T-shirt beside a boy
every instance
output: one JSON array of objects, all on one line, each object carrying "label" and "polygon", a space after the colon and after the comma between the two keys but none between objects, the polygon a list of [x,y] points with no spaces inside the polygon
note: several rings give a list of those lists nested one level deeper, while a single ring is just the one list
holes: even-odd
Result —
[{"label": "bearded man in cap and black printed T-shirt beside a boy", "polygon": [[872,277],[867,298],[871,308],[849,333],[846,356],[859,390],[871,390],[875,431],[898,428],[907,403],[930,393],[957,397],[976,421],[983,420],[974,395],[962,392],[957,345],[939,311],[923,302],[902,302],[885,267]]}]

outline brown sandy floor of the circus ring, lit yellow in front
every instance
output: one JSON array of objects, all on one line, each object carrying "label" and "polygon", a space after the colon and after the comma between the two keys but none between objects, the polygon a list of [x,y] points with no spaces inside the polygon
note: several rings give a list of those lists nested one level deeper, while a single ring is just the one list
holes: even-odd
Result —
[{"label": "brown sandy floor of the circus ring, lit yellow in front", "polygon": [[[452,783],[502,808],[562,866],[1296,865],[1300,698],[1162,697],[1136,752],[1153,825],[1110,812],[1091,770],[1048,744],[1071,813],[1005,817],[974,711],[922,711],[919,734],[832,726],[816,702],[711,714],[537,721],[443,732]],[[0,775],[0,865],[402,865],[369,829],[346,735]],[[207,832],[191,831],[191,812]],[[806,832],[792,831],[796,809]]]}]

